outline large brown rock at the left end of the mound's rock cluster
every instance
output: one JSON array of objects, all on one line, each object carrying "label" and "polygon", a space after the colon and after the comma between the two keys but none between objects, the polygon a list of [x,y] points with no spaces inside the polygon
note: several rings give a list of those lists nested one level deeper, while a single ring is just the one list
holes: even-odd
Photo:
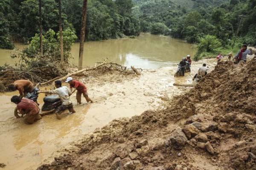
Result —
[{"label": "large brown rock at the left end of the mound's rock cluster", "polygon": [[180,127],[178,127],[174,132],[172,132],[171,137],[169,139],[170,144],[172,144],[176,148],[185,146],[187,140],[188,139],[186,138],[186,135],[182,132]]}]

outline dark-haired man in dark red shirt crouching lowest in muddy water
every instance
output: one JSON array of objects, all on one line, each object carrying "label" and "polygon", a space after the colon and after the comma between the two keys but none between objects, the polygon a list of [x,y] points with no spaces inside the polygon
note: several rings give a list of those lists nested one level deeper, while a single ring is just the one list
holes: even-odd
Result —
[{"label": "dark-haired man in dark red shirt crouching lowest in muddy water", "polygon": [[[32,124],[42,117],[39,115],[40,108],[38,104],[29,99],[20,99],[19,96],[12,96],[11,102],[17,105],[17,110],[20,114],[25,115],[24,122]],[[15,112],[16,112],[15,111]]]}]

